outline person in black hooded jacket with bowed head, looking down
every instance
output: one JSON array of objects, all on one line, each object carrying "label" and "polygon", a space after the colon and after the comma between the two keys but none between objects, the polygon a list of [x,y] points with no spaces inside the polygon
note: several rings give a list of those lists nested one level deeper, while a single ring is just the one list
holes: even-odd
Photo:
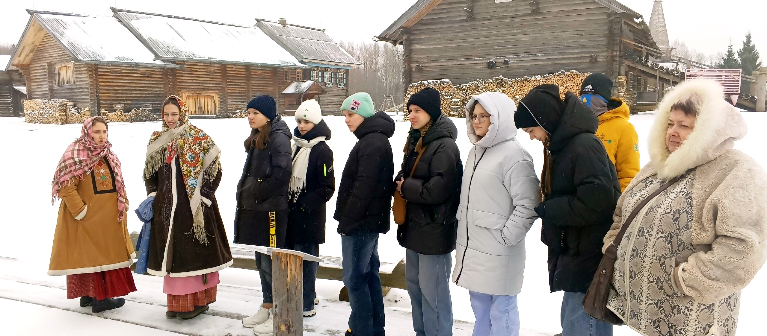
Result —
[{"label": "person in black hooded jacket with bowed head, looking down", "polygon": [[542,241],[548,246],[551,292],[565,291],[562,334],[611,336],[612,325],[584,312],[581,302],[602,259],[621,185],[597,132],[597,116],[578,96],[559,87],[535,87],[519,102],[518,129],[545,145],[541,176]]}]

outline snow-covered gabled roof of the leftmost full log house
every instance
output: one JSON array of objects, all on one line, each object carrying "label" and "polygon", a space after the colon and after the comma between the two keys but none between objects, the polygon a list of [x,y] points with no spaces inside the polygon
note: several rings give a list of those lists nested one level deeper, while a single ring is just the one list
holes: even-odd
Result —
[{"label": "snow-covered gabled roof of the leftmost full log house", "polygon": [[146,50],[115,18],[27,10],[31,15],[10,64],[29,64],[48,32],[78,63],[177,67]]}]

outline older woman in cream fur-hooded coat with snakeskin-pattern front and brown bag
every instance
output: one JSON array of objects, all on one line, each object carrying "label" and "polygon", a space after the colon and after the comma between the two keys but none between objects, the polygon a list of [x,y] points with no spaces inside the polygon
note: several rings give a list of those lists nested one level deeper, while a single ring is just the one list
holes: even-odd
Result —
[{"label": "older woman in cream fur-hooded coat with snakeskin-pattern front and brown bag", "polygon": [[663,99],[650,163],[618,201],[604,238],[606,250],[628,225],[607,308],[645,336],[735,334],[740,290],[765,262],[767,178],[732,148],[746,121],[723,96],[719,83],[690,80]]}]

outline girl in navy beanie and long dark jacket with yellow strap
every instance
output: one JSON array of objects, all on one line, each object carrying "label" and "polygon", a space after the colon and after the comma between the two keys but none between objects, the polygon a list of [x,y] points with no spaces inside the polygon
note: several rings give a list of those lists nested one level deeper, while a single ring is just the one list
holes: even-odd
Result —
[{"label": "girl in navy beanie and long dark jacket with yellow strap", "polygon": [[[271,96],[258,96],[248,103],[251,135],[245,139],[245,168],[237,185],[235,243],[285,247],[288,228],[288,184],[291,177],[290,131],[277,116]],[[264,304],[242,325],[272,330],[272,258],[255,253],[255,266],[261,276]]]}]

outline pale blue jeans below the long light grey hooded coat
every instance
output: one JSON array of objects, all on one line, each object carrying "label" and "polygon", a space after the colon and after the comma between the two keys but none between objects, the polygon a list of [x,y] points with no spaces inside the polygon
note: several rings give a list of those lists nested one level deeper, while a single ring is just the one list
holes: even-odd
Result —
[{"label": "pale blue jeans below the long light grey hooded coat", "polygon": [[469,291],[474,311],[472,336],[519,336],[517,295],[489,295]]}]

